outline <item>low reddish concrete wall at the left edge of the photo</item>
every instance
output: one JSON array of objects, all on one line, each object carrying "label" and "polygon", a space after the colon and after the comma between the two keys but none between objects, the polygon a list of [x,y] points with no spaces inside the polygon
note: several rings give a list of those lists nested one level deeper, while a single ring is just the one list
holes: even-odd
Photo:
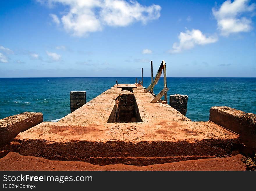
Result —
[{"label": "low reddish concrete wall at the left edge of the photo", "polygon": [[0,145],[10,143],[20,132],[43,122],[42,113],[24,112],[0,120]]}]

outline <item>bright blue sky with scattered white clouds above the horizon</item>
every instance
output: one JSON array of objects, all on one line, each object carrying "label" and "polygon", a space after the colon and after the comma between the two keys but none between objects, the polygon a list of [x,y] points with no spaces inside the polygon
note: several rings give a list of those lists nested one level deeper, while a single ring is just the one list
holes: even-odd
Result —
[{"label": "bright blue sky with scattered white clouds above the horizon", "polygon": [[0,1],[0,77],[256,77],[256,2]]}]

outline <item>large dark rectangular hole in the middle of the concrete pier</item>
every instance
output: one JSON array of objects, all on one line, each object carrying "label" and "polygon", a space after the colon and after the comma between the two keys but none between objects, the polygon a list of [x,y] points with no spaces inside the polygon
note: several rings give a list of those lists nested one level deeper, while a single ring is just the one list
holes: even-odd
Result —
[{"label": "large dark rectangular hole in the middle of the concrete pier", "polygon": [[121,91],[115,101],[108,123],[143,122],[133,93]]}]

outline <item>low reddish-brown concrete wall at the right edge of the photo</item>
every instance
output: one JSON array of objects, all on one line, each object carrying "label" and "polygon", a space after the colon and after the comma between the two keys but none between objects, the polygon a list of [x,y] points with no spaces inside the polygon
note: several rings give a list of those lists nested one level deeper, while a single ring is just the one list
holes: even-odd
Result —
[{"label": "low reddish-brown concrete wall at the right edge of the photo", "polygon": [[210,121],[241,135],[245,145],[243,152],[253,154],[256,151],[256,115],[232,109],[230,107],[211,107]]}]

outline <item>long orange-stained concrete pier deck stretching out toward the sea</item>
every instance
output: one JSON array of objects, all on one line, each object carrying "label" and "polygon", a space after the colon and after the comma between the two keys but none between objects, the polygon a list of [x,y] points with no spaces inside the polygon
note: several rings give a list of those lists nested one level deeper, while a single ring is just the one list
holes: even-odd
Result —
[{"label": "long orange-stained concrete pier deck stretching out toward the sea", "polygon": [[239,135],[213,122],[192,122],[169,105],[150,103],[153,95],[143,91],[143,87],[133,89],[143,122],[108,123],[121,93],[114,86],[58,122],[43,122],[20,133],[15,138],[19,153],[141,166],[230,156],[236,150]]}]

